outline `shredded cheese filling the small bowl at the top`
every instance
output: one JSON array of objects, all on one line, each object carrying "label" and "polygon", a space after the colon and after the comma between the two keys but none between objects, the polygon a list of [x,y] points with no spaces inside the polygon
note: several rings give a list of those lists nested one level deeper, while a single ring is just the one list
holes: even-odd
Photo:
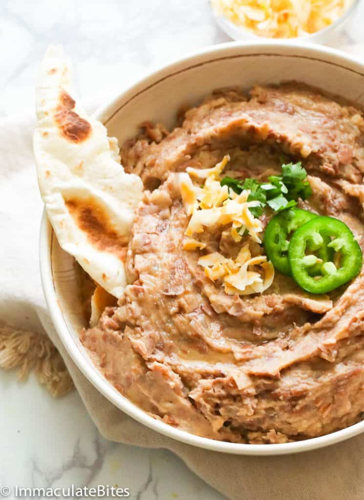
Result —
[{"label": "shredded cheese filling the small bowl at the top", "polygon": [[352,0],[211,0],[238,26],[268,38],[315,33],[338,19]]}]

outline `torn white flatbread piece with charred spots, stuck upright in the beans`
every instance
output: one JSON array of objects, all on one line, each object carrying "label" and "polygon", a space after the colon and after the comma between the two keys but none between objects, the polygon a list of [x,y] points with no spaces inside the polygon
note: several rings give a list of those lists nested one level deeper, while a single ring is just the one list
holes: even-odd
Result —
[{"label": "torn white flatbread piece with charred spots, stuck upright in the beans", "polygon": [[119,163],[116,139],[69,94],[70,64],[50,46],[36,87],[38,183],[60,246],[115,297],[126,285],[129,229],[142,182]]}]

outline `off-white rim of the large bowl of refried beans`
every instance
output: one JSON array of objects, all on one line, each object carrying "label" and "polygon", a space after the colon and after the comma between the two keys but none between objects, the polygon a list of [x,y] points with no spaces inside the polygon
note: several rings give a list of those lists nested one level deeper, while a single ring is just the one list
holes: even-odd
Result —
[{"label": "off-white rim of the large bowl of refried beans", "polygon": [[[228,51],[228,55],[226,55],[226,53],[223,55],[226,50]],[[188,70],[195,65],[201,65],[213,60],[218,60],[221,58],[219,56],[225,58],[233,57],[235,55],[256,55],[263,53],[268,53],[270,55],[294,55],[298,57],[302,56],[314,58],[321,60],[322,62],[333,63],[334,65],[344,67],[345,69],[364,76],[363,63],[351,55],[347,55],[336,49],[328,47],[318,47],[306,43],[293,45],[287,43],[286,41],[227,42],[218,45],[210,45],[174,60],[171,63],[163,64],[159,69],[150,72],[147,76],[139,79],[133,85],[128,86],[126,89],[110,97],[103,106],[98,108],[98,110],[94,113],[94,116],[103,123],[107,123],[107,121],[111,119],[111,117],[122,107],[122,105],[119,106],[120,102],[124,102],[123,105],[125,105],[130,100],[131,96],[136,96],[142,90],[146,90],[160,80],[171,76],[171,74],[175,74],[178,72],[178,68],[181,70],[180,67],[186,63],[189,63],[190,65],[184,67],[183,70]],[[117,107],[116,110],[115,107]],[[349,427],[345,427],[344,429],[302,441],[277,444],[245,444],[217,441],[197,436],[187,431],[172,427],[171,425],[168,425],[160,420],[154,419],[144,412],[144,410],[137,407],[134,403],[118,393],[117,390],[112,387],[106,379],[104,379],[97,368],[86,360],[72,339],[70,330],[67,327],[66,321],[59,307],[53,284],[51,269],[52,235],[53,230],[44,209],[39,233],[39,265],[43,293],[54,327],[71,359],[85,375],[88,381],[91,382],[92,385],[110,402],[121,409],[124,413],[134,418],[136,421],[154,431],[159,432],[160,434],[182,443],[224,453],[260,456],[291,454],[308,451],[340,442],[364,431],[364,420],[362,420]]]}]

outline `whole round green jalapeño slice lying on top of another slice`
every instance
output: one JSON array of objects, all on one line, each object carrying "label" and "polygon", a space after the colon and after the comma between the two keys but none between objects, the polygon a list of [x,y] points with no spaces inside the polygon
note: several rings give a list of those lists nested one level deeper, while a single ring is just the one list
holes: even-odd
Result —
[{"label": "whole round green jalape\u00f1o slice lying on top of another slice", "polygon": [[[334,252],[332,259],[319,262],[325,248]],[[359,273],[362,254],[346,224],[322,216],[309,220],[293,233],[288,260],[293,279],[299,286],[310,293],[326,293]],[[310,273],[312,266],[319,266],[319,273],[314,276]]]}]

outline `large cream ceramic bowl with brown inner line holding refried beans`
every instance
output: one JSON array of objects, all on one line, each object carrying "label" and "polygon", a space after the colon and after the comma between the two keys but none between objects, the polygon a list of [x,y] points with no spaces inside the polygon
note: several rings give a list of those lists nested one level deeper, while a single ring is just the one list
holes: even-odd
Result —
[{"label": "large cream ceramic bowl with brown inner line holding refried beans", "polygon": [[[97,68],[95,68],[95,71]],[[96,113],[118,138],[132,137],[145,120],[172,126],[181,104],[197,103],[216,87],[294,79],[349,98],[364,107],[364,65],[327,48],[278,43],[227,43],[179,59],[112,96]],[[68,353],[88,380],[122,411],[156,432],[202,448],[236,454],[274,455],[326,446],[364,431],[364,421],[321,437],[283,444],[235,444],[195,436],[153,419],[123,397],[93,366],[79,341],[84,326],[78,265],[58,245],[43,216],[40,269],[54,326]]]}]

